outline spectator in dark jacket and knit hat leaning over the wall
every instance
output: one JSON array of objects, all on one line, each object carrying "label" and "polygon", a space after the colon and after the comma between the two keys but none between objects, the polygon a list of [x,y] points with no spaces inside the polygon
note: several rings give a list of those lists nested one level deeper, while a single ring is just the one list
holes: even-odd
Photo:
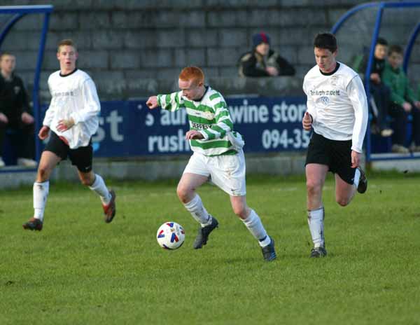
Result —
[{"label": "spectator in dark jacket and knit hat leaning over the wall", "polygon": [[253,49],[241,56],[239,76],[293,76],[295,68],[274,50],[270,50],[269,36],[263,32],[253,35]]}]

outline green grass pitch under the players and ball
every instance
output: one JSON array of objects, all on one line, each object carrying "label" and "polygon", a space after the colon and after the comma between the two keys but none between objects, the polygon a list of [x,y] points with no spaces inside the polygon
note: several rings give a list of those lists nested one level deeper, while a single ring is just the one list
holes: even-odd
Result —
[{"label": "green grass pitch under the players and ball", "polygon": [[[176,181],[113,182],[118,214],[79,184],[51,184],[41,233],[22,230],[31,188],[0,191],[0,324],[420,324],[419,175],[370,175],[366,194],[335,203],[324,190],[328,257],[309,259],[302,177],[251,177],[248,204],[276,240],[260,248],[228,195],[200,195],[220,228],[193,250],[197,224]],[[186,229],[160,249],[165,221]]]}]

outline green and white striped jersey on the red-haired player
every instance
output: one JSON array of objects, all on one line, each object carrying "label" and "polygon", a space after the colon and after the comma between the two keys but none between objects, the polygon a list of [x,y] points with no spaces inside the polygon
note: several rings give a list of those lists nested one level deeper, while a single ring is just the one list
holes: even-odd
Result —
[{"label": "green and white striped jersey on the red-haired player", "polygon": [[217,90],[207,87],[200,102],[183,97],[182,91],[158,95],[162,109],[187,110],[190,130],[198,130],[204,139],[190,140],[191,150],[203,155],[232,155],[237,153],[244,141],[233,130],[232,118],[225,99]]}]

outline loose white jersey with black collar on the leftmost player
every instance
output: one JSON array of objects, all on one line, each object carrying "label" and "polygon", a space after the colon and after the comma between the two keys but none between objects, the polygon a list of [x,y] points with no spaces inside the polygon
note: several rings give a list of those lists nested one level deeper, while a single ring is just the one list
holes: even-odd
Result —
[{"label": "loose white jersey with black collar on the leftmost player", "polygon": [[[50,127],[59,137],[64,137],[72,149],[87,146],[99,126],[98,114],[101,104],[92,78],[84,71],[76,69],[62,76],[55,71],[48,78],[52,96],[50,107],[45,113],[43,125]],[[75,125],[59,132],[59,120],[73,118]]]}]

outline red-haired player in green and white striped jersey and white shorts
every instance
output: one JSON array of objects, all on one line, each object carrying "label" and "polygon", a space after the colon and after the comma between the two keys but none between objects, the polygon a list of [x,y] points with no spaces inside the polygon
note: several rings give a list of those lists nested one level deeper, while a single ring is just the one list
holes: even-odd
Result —
[{"label": "red-haired player in green and white striped jersey and white shorts", "polygon": [[233,211],[253,237],[258,240],[265,261],[276,258],[272,240],[260,217],[246,205],[245,158],[241,134],[233,130],[232,119],[225,99],[220,92],[204,85],[204,74],[200,68],[186,67],[179,74],[179,92],[149,97],[150,109],[176,111],[186,109],[193,155],[183,172],[176,193],[193,218],[200,223],[194,249],[207,243],[218,221],[204,207],[195,190],[211,179],[211,182],[230,195]]}]

